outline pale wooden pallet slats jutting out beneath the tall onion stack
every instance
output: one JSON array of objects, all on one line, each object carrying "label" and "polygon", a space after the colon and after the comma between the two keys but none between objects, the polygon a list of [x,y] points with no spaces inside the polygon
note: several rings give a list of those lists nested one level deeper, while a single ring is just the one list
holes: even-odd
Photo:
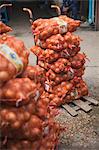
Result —
[{"label": "pale wooden pallet slats jutting out beneath the tall onion stack", "polygon": [[75,117],[78,115],[77,110],[83,110],[85,112],[92,110],[91,104],[99,105],[99,102],[89,96],[85,96],[78,100],[74,100],[69,104],[62,105],[62,108],[64,108],[71,116]]}]

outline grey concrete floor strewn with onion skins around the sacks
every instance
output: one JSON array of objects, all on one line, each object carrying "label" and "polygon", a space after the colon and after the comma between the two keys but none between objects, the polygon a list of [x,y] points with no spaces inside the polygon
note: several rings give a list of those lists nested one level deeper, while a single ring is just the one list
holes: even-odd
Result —
[{"label": "grey concrete floor strewn with onion skins around the sacks", "polygon": [[[22,6],[17,7],[17,10],[12,10],[11,20],[9,25],[13,28],[12,35],[22,39],[30,49],[34,45],[33,35],[31,33],[31,25],[28,15],[22,13]],[[33,7],[35,16],[46,17],[52,12]],[[75,34],[79,35],[81,42],[81,51],[86,53],[89,62],[86,63],[86,71],[84,79],[89,87],[89,94],[99,100],[99,32],[89,29],[78,29]],[[36,57],[30,55],[30,64],[36,64]],[[61,145],[59,150],[98,150],[99,149],[99,106],[92,106],[93,110],[88,114],[79,111],[79,115],[75,118],[61,112],[57,120],[66,126],[68,129],[61,137]]]}]

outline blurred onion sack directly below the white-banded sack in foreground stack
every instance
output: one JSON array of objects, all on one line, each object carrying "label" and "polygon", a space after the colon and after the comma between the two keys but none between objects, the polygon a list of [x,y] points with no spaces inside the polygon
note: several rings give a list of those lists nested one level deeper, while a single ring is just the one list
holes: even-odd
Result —
[{"label": "blurred onion sack directly below the white-banded sack in foreground stack", "polygon": [[30,97],[36,97],[39,86],[29,78],[16,78],[9,80],[2,88],[1,103],[20,106],[30,101]]}]

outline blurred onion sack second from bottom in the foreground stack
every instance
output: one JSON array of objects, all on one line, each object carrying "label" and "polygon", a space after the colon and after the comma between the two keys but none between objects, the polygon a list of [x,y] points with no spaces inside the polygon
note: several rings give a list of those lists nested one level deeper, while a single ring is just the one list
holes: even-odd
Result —
[{"label": "blurred onion sack second from bottom in the foreground stack", "polygon": [[0,129],[2,137],[7,136],[14,140],[28,139],[32,141],[41,138],[42,120],[37,115],[30,115],[25,110],[22,113],[21,109],[17,115],[15,115],[16,110],[14,108],[12,111],[6,109],[5,112],[4,110],[1,111],[2,122]]}]

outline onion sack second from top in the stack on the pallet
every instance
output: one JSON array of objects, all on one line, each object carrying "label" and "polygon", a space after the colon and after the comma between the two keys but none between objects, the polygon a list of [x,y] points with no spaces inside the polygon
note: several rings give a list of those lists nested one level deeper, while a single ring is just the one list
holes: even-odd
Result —
[{"label": "onion sack second from top in the stack on the pallet", "polygon": [[73,35],[70,32],[63,36],[61,34],[52,35],[46,40],[40,40],[39,37],[35,37],[37,46],[40,46],[43,49],[51,49],[56,52],[60,52],[67,48],[73,50],[73,48],[79,47],[80,41],[79,36]]}]

